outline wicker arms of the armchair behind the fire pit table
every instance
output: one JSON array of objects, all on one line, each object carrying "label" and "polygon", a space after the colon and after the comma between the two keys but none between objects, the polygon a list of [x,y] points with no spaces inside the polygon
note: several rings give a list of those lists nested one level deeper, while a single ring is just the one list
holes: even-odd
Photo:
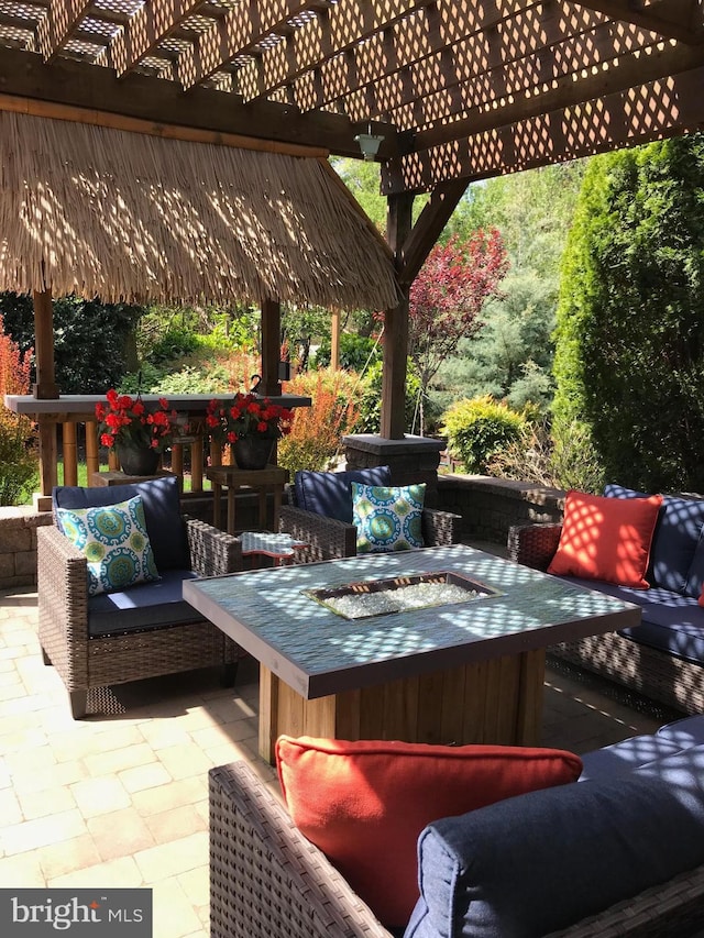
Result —
[{"label": "wicker arms of the armchair behind the fire pit table", "polygon": [[[278,529],[307,544],[296,551],[297,563],[317,563],[356,554],[356,528],[299,508],[293,485],[286,486],[288,504],[282,505]],[[460,540],[460,515],[426,508],[422,512],[422,538],[426,547],[457,544]]]}]

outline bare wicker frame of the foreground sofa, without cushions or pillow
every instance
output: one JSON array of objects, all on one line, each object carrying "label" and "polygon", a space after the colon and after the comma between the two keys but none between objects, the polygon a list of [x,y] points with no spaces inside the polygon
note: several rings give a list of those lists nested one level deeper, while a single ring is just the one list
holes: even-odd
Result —
[{"label": "bare wicker frame of the foreground sofa, without cushions or pillow", "polygon": [[[551,938],[685,938],[703,922],[698,868]],[[210,771],[210,935],[391,938],[244,762]]]}]

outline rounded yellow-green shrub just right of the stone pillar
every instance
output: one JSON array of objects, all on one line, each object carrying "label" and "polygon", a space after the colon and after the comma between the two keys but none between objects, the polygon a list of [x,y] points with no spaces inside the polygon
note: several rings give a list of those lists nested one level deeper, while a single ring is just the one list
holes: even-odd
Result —
[{"label": "rounded yellow-green shrub just right of the stone pillar", "polygon": [[525,417],[493,397],[458,400],[446,410],[440,432],[448,450],[462,461],[466,472],[485,474],[491,461],[520,439]]}]

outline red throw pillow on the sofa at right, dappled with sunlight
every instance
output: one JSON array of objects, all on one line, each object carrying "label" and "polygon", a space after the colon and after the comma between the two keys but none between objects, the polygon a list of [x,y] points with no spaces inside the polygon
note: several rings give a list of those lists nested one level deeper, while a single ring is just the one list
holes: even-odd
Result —
[{"label": "red throw pillow on the sofa at right, dappled with sunlight", "polygon": [[606,498],[568,492],[560,543],[548,573],[647,589],[650,543],[661,505],[661,495]]}]

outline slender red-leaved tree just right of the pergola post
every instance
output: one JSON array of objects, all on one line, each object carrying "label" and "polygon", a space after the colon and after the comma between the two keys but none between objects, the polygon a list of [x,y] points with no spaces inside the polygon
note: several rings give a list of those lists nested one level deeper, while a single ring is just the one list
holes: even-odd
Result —
[{"label": "slender red-leaved tree just right of the pergola post", "polygon": [[420,380],[420,433],[425,432],[425,397],[442,362],[462,339],[481,328],[480,313],[496,296],[508,269],[506,249],[496,229],[457,235],[436,244],[410,287],[408,353]]}]

